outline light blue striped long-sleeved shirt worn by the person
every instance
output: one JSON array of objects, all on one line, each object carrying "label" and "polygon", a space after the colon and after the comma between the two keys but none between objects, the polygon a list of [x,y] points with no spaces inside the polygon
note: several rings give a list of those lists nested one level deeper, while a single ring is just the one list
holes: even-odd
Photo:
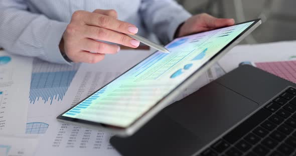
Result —
[{"label": "light blue striped long-sleeved shirt worn by the person", "polygon": [[59,42],[76,10],[115,9],[118,19],[135,24],[139,35],[173,39],[191,16],[174,0],[0,0],[0,47],[25,56],[67,63]]}]

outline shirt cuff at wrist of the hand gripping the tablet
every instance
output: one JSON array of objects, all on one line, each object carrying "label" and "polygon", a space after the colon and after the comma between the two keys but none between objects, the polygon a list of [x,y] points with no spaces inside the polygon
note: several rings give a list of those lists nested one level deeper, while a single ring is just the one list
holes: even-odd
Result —
[{"label": "shirt cuff at wrist of the hand gripping the tablet", "polygon": [[178,12],[175,12],[175,16],[172,19],[173,22],[171,22],[171,24],[168,27],[168,35],[169,35],[169,39],[173,40],[174,39],[174,35],[175,32],[178,28],[178,26],[183,23],[185,20],[187,20],[189,17],[191,17],[192,15],[186,11],[186,10],[180,10]]}]

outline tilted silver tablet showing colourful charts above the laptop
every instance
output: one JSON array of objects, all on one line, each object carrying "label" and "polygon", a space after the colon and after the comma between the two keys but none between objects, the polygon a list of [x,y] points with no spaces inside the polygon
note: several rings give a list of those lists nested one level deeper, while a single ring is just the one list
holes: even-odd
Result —
[{"label": "tilted silver tablet showing colourful charts above the laptop", "polygon": [[260,23],[255,19],[176,38],[166,45],[170,53],[154,52],[57,119],[131,135]]}]

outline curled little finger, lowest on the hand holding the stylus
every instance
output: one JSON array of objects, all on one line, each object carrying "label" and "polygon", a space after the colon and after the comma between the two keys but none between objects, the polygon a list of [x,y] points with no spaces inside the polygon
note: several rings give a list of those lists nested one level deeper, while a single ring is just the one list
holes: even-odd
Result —
[{"label": "curled little finger, lowest on the hand holding the stylus", "polygon": [[102,53],[91,53],[89,51],[80,51],[76,54],[78,58],[75,62],[85,62],[85,63],[97,63],[103,60],[105,54]]}]

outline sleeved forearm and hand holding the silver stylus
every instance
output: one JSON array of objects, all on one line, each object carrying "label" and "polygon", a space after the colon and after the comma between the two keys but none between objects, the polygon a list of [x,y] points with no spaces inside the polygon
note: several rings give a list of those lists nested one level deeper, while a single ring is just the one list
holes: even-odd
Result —
[{"label": "sleeved forearm and hand holding the silver stylus", "polygon": [[125,35],[137,33],[137,27],[118,20],[115,10],[78,10],[72,14],[70,23],[65,23],[27,9],[26,0],[0,1],[0,46],[7,51],[69,63],[62,51],[68,60],[96,63],[106,53],[120,50],[116,44],[98,40],[133,48],[139,44]]}]

